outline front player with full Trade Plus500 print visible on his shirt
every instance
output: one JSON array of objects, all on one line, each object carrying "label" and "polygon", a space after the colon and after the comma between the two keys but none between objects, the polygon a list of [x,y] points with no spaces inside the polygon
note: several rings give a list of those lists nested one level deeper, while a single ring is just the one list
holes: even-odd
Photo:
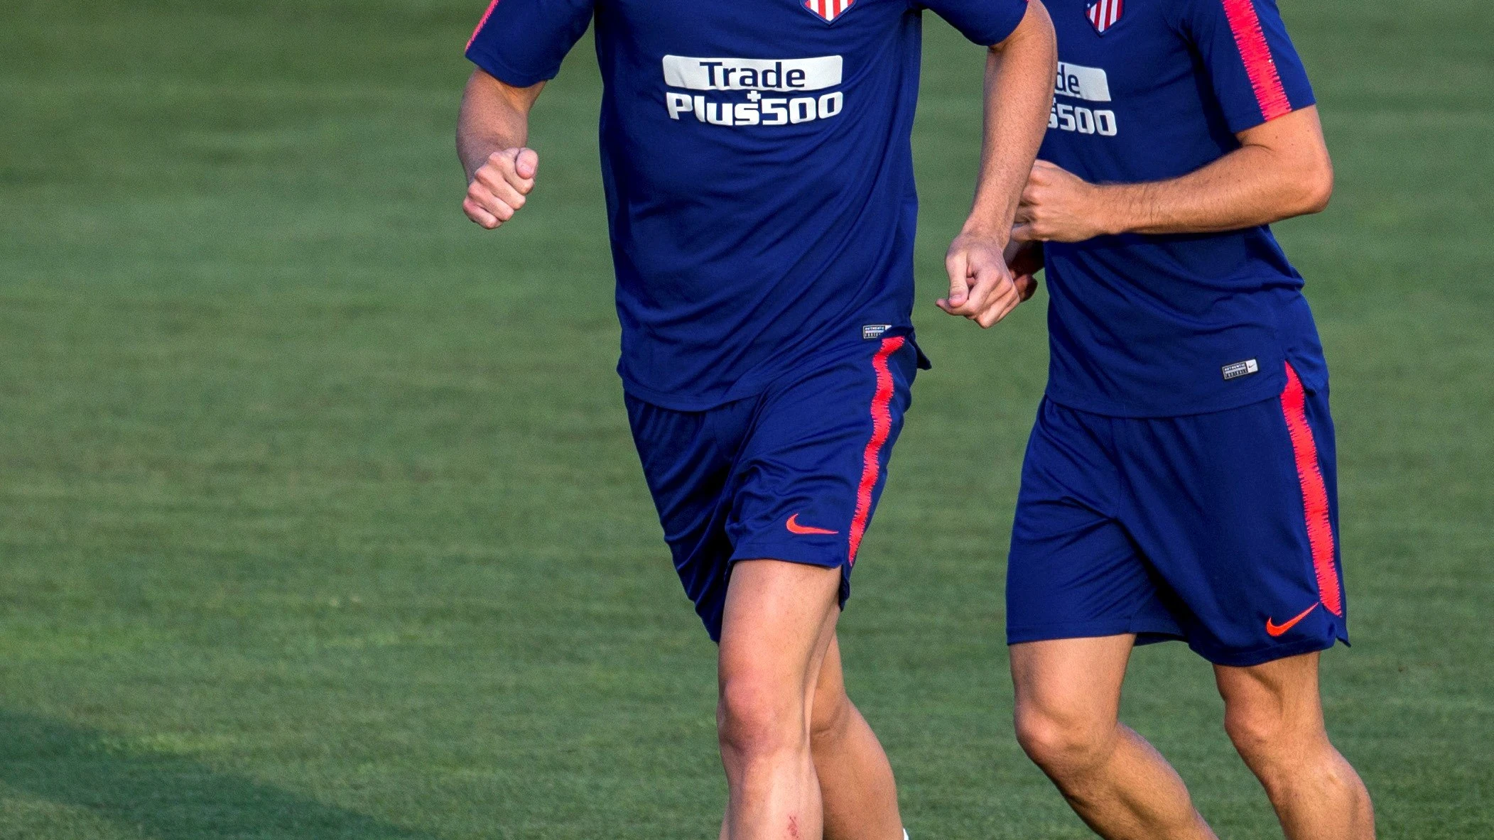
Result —
[{"label": "front player with full Trade Plus500 print visible on his shirt", "polygon": [[529,110],[596,21],[627,416],[686,594],[720,643],[722,836],[904,837],[835,622],[914,370],[910,131],[922,10],[991,46],[974,209],[940,304],[989,327],[1052,100],[1038,0],[502,0],[457,148],[468,216],[535,188]]}]

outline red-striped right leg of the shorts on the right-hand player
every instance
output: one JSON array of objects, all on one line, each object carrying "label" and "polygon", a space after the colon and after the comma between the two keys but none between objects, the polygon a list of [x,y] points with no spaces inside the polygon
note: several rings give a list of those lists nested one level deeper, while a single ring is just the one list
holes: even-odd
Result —
[{"label": "red-striped right leg of the shorts on the right-hand player", "polygon": [[1327,395],[1126,421],[1122,521],[1189,645],[1247,667],[1348,642]]}]

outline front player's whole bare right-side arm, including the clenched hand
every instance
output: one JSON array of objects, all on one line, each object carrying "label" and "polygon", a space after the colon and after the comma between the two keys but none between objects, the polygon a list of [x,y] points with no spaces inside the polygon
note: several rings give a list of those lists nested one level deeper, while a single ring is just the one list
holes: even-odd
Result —
[{"label": "front player's whole bare right-side arm, including the clenched hand", "polygon": [[982,327],[996,324],[1023,300],[1002,249],[1022,185],[1047,131],[1056,67],[1053,22],[1041,0],[1031,0],[1016,31],[986,57],[985,140],[976,201],[944,258],[949,297],[938,301],[940,309]]}]

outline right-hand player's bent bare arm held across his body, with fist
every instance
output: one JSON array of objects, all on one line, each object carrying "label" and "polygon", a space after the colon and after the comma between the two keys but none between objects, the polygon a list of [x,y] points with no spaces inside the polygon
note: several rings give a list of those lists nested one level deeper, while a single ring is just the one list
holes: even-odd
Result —
[{"label": "right-hand player's bent bare arm held across his body, with fist", "polygon": [[1215,233],[1328,206],[1333,161],[1316,107],[1247,128],[1239,139],[1239,149],[1212,164],[1150,184],[1088,184],[1037,161],[1013,237],[1082,242],[1119,233]]}]

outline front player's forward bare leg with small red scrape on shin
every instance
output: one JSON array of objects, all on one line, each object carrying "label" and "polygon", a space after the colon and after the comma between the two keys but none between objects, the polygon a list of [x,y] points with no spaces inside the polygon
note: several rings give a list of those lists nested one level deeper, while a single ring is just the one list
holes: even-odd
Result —
[{"label": "front player's forward bare leg with small red scrape on shin", "polygon": [[777,560],[732,570],[722,621],[717,734],[731,840],[819,840],[810,709],[835,621],[840,570]]}]

